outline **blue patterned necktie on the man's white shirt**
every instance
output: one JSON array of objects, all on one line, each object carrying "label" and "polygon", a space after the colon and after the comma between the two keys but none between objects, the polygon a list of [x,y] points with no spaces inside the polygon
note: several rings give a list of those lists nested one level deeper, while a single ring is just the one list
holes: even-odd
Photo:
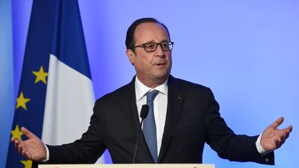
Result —
[{"label": "blue patterned necktie on the man's white shirt", "polygon": [[152,153],[152,158],[154,162],[158,160],[158,149],[156,140],[156,122],[154,120],[154,98],[158,95],[158,91],[154,90],[147,92],[147,105],[149,106],[149,113],[147,118],[143,122],[143,134],[147,142],[147,147],[149,147],[150,153]]}]

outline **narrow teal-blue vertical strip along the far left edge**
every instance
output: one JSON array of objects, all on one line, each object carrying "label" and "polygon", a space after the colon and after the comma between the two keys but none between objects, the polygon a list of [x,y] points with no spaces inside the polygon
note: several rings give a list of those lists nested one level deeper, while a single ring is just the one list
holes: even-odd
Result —
[{"label": "narrow teal-blue vertical strip along the far left edge", "polygon": [[14,112],[12,10],[9,0],[0,0],[0,167],[4,167]]}]

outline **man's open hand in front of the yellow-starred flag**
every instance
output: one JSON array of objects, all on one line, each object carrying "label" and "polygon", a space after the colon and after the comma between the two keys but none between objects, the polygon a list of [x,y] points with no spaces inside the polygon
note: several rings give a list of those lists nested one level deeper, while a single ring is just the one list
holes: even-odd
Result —
[{"label": "man's open hand in front of the yellow-starred flag", "polygon": [[21,132],[27,136],[28,140],[11,138],[11,141],[15,142],[15,148],[21,156],[34,161],[46,160],[46,147],[44,146],[44,142],[25,127],[21,127]]}]

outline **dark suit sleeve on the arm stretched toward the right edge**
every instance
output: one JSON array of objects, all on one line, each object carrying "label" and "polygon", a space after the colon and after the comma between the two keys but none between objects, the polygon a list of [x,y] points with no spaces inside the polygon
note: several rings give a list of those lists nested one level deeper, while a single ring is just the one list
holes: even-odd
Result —
[{"label": "dark suit sleeve on the arm stretched toward the right edge", "polygon": [[[210,91],[210,90],[209,90]],[[206,124],[208,129],[207,143],[217,151],[220,158],[238,162],[258,162],[274,165],[274,153],[262,157],[258,153],[255,142],[258,136],[236,135],[219,113],[219,104],[212,91],[207,101]]]}]

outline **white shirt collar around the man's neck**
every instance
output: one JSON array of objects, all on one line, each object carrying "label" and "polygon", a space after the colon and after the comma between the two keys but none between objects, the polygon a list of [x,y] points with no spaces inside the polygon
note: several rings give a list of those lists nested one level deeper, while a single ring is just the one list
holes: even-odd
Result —
[{"label": "white shirt collar around the man's neck", "polygon": [[156,88],[149,88],[145,86],[143,83],[141,83],[140,80],[138,80],[138,77],[136,75],[135,77],[135,93],[136,93],[136,100],[140,100],[148,91],[157,90],[160,93],[163,93],[164,95],[167,95],[168,93],[168,78],[163,82],[163,84],[156,86]]}]

